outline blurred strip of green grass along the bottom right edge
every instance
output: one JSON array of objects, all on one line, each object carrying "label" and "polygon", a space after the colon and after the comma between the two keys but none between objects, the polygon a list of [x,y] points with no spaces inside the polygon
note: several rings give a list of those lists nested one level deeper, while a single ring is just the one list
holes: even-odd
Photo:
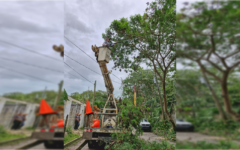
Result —
[{"label": "blurred strip of green grass along the bottom right edge", "polygon": [[177,142],[177,150],[239,150],[240,144],[233,142],[220,141],[219,143],[207,143],[206,141],[199,141],[197,143],[191,142]]}]

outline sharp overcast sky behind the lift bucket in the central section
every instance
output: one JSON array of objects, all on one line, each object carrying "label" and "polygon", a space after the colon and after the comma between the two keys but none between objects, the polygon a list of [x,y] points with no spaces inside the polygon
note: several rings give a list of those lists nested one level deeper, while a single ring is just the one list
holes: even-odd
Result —
[{"label": "sharp overcast sky behind the lift bucket in the central section", "polygon": [[[68,42],[67,39],[65,39],[65,42],[67,43],[67,46],[65,47],[66,55],[101,74],[100,68],[95,60],[95,54],[92,52],[91,45],[102,45],[104,42],[102,39],[102,33],[105,32],[105,29],[110,26],[113,20],[118,20],[122,17],[129,18],[131,15],[135,14],[143,14],[147,6],[146,2],[151,1],[65,0],[64,34],[90,57],[94,58],[94,60]],[[64,61],[90,81],[87,81],[65,65],[65,88],[68,94],[73,92],[81,93],[88,90],[88,87],[89,90],[93,90],[93,83],[95,80],[97,81],[96,90],[106,91],[104,79],[101,75],[81,66],[69,58],[65,57]],[[112,70],[113,65],[112,61],[108,63],[108,69]],[[113,74],[121,79],[125,79],[128,76],[128,73],[123,71],[120,72],[118,70],[113,70]],[[110,77],[113,81],[114,95],[120,96],[122,92],[119,89],[121,84],[118,83],[121,83],[121,80],[112,74]]]}]

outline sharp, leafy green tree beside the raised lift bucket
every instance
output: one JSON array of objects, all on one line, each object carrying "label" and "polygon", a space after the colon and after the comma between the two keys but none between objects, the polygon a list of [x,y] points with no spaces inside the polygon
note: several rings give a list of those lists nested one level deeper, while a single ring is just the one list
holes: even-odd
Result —
[{"label": "sharp, leafy green tree beside the raised lift bucket", "polygon": [[164,111],[175,129],[175,122],[167,110],[165,80],[176,68],[176,0],[156,0],[147,4],[144,15],[131,16],[129,20],[114,20],[103,38],[111,38],[117,42],[110,48],[114,69],[137,71],[142,63],[154,67],[162,83]]}]

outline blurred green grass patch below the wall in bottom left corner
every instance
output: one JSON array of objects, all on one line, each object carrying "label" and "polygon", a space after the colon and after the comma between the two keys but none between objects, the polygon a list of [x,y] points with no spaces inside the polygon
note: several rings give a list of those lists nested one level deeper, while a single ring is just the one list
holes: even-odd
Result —
[{"label": "blurred green grass patch below the wall in bottom left corner", "polygon": [[26,137],[24,134],[10,134],[2,126],[0,126],[0,135],[0,142]]}]

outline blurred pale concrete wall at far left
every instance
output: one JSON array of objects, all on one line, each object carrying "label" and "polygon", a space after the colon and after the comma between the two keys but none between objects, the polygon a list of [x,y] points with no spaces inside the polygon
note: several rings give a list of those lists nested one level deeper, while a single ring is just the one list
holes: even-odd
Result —
[{"label": "blurred pale concrete wall at far left", "polygon": [[16,113],[26,113],[23,128],[32,127],[36,119],[35,111],[39,104],[0,97],[0,125],[11,128]]}]

